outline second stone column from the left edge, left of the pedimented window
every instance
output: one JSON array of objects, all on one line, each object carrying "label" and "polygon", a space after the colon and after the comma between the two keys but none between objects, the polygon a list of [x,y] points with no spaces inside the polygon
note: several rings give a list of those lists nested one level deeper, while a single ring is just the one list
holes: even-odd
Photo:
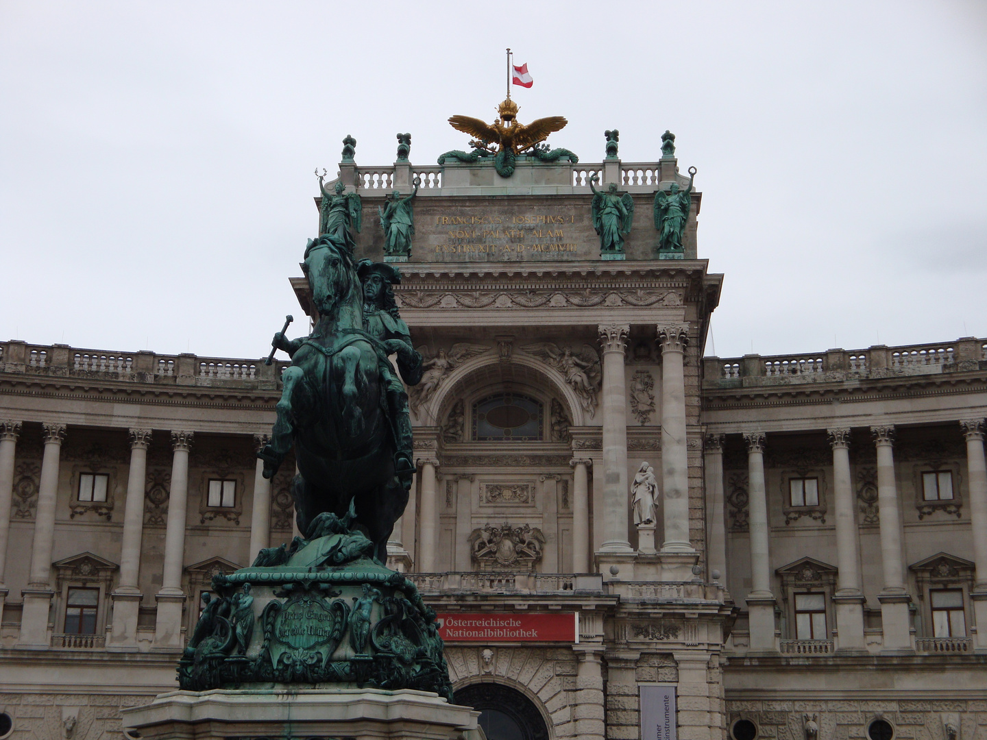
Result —
[{"label": "second stone column from the left edge, left of the pedimented window", "polygon": [[55,542],[55,502],[58,496],[58,466],[65,424],[44,424],[44,456],[38,484],[38,510],[35,513],[35,539],[31,548],[31,574],[21,592],[19,644],[43,647],[48,644],[48,613],[51,609],[51,551]]}]

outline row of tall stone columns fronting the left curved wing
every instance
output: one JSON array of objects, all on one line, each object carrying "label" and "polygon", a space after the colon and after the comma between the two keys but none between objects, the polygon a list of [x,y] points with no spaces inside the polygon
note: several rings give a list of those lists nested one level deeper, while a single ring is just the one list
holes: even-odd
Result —
[{"label": "row of tall stone columns fronting the left curved wing", "polygon": [[[10,511],[13,501],[15,454],[22,424],[16,420],[0,420],[0,614],[8,589],[5,584]],[[54,549],[55,514],[61,463],[61,444],[65,439],[65,424],[42,424],[44,452],[38,483],[38,504],[32,540],[28,585],[23,590],[24,608],[18,644],[42,647],[48,644],[47,632],[54,583],[51,557]],[[140,555],[144,528],[144,496],[147,476],[147,449],[151,430],[128,430],[130,465],[126,496],[123,502],[123,532],[119,555],[119,580],[111,594],[114,603],[113,628],[108,638],[109,649],[137,648],[137,616],[143,595],[139,589]],[[185,566],[186,523],[189,503],[189,453],[194,433],[188,430],[171,432],[172,478],[168,499],[168,519],[165,530],[165,554],[161,588],[155,594],[158,603],[154,646],[182,646],[182,611],[186,593],[182,588]],[[266,443],[265,435],[255,435],[255,446]],[[270,536],[270,482],[258,461],[254,481],[254,513],[251,522],[250,556],[268,546]]]}]

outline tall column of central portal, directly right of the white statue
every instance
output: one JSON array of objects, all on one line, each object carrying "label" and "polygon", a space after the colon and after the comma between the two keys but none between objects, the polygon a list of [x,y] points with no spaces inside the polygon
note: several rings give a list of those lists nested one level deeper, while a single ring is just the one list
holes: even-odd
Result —
[{"label": "tall column of central portal, directly right of the white statue", "polygon": [[662,553],[693,553],[689,541],[689,458],[685,437],[687,324],[658,327],[661,344],[661,496],[665,541]]}]

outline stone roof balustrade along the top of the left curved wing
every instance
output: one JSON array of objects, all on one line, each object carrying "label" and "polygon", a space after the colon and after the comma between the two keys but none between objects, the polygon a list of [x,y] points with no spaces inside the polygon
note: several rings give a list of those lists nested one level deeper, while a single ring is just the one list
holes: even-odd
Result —
[{"label": "stone roof balustrade along the top of the left curved wing", "polygon": [[194,354],[118,352],[0,342],[0,372],[74,376],[160,385],[274,389],[288,362],[262,359],[199,357]]}]

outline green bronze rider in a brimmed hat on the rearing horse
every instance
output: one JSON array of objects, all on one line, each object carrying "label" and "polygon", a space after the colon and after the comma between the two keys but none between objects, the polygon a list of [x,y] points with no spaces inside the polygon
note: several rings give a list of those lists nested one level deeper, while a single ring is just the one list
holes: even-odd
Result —
[{"label": "green bronze rider in a brimmed hat on the rearing horse", "polygon": [[[384,262],[360,259],[356,264],[356,275],[363,286],[363,331],[382,342],[388,354],[397,354],[401,377],[407,385],[417,385],[421,380],[421,355],[412,346],[412,335],[398,313],[392,287],[401,283],[400,270]],[[393,369],[388,371],[386,396],[398,443],[396,456],[401,460],[400,467],[414,469],[408,393]]]}]

